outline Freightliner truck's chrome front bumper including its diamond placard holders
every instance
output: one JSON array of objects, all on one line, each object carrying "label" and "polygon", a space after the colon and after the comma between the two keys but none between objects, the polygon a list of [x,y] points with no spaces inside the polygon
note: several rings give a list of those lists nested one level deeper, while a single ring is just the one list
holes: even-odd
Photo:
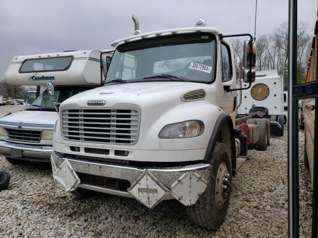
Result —
[{"label": "Freightliner truck's chrome front bumper including its diamond placard holders", "polygon": [[[206,179],[209,177],[209,173],[212,168],[210,164],[206,163],[169,168],[134,167],[125,164],[90,161],[89,159],[74,159],[53,151],[51,154],[51,163],[54,175],[57,174],[57,171],[59,172],[61,170],[63,163],[66,161],[69,163],[69,167],[71,167],[70,173],[75,174],[73,177],[78,178],[76,174],[80,173],[127,180],[131,184],[126,191],[123,191],[105,188],[96,184],[87,184],[86,182],[82,183],[78,180],[77,182],[79,182],[79,184],[77,184],[76,187],[78,186],[80,188],[123,197],[136,198],[149,208],[153,208],[162,200],[169,199],[177,199],[184,205],[194,204],[199,196],[204,192],[207,184]],[[60,180],[60,178],[57,180]],[[142,183],[145,181],[146,183],[149,181],[152,183],[147,183],[147,185],[141,187]],[[69,181],[65,181],[65,183],[69,183]],[[153,184],[155,185],[153,186]],[[76,187],[74,187],[74,189]],[[161,190],[163,195],[154,195],[154,193],[156,193],[154,191],[156,190],[158,193],[160,193],[159,190]],[[149,194],[158,197],[154,198],[156,200],[154,203],[145,204],[143,202],[143,197],[148,196],[147,199],[149,200]]]}]

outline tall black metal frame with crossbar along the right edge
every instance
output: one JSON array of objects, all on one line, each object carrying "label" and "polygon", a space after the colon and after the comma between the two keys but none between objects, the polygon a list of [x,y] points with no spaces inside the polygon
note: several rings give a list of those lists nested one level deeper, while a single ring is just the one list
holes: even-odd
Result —
[{"label": "tall black metal frame with crossbar along the right edge", "polygon": [[[314,34],[316,37],[314,37],[306,76],[308,80],[297,84],[297,0],[289,0],[288,230],[290,238],[299,237],[298,101],[316,98],[315,109],[318,108],[318,22],[316,22]],[[318,238],[318,113],[315,113],[313,172],[312,237]]]}]

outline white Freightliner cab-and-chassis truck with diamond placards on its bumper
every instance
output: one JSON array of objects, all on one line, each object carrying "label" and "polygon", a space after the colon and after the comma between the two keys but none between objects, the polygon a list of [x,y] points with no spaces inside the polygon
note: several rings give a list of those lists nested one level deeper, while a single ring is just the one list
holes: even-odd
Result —
[{"label": "white Freightliner cab-and-chassis truck with diamond placards on its bumper", "polygon": [[[109,67],[100,58],[104,86],[61,104],[53,177],[78,196],[97,191],[135,198],[150,209],[176,199],[194,223],[218,229],[243,161],[239,155],[247,150],[236,125],[236,91],[254,79],[253,39],[222,35],[203,20],[142,34],[133,19],[134,35],[111,44],[116,50]],[[237,36],[249,37],[245,88],[237,88],[227,40]],[[260,150],[268,143],[267,120],[248,126],[250,143]]]}]

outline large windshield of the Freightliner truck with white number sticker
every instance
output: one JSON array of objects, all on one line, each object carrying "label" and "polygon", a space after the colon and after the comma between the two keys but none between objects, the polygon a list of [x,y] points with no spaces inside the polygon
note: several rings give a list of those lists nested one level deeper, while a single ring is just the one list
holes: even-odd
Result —
[{"label": "large windshield of the Freightliner truck with white number sticker", "polygon": [[117,47],[105,83],[113,80],[111,83],[170,80],[211,83],[215,77],[215,52],[215,36],[207,33],[126,43]]}]

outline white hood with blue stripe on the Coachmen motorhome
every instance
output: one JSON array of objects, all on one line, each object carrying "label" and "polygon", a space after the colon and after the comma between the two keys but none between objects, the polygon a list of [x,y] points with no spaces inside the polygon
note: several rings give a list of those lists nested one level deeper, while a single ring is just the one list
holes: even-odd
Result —
[{"label": "white hood with blue stripe on the Coachmen motorhome", "polygon": [[56,112],[21,111],[0,118],[0,126],[53,129]]}]

